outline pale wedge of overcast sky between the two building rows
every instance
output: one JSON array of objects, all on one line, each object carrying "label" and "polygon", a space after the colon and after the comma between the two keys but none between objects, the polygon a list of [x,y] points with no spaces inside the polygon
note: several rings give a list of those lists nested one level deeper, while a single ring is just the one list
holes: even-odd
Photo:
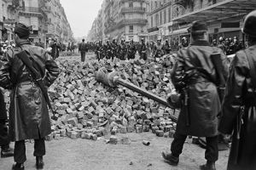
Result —
[{"label": "pale wedge of overcast sky between the two building rows", "polygon": [[87,36],[103,0],[61,0],[74,37]]}]

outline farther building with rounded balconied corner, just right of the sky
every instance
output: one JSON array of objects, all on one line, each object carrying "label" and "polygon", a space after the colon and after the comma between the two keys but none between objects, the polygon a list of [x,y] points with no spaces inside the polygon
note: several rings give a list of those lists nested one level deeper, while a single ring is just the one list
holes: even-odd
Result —
[{"label": "farther building with rounded balconied corner, just right of the sky", "polygon": [[96,32],[100,32],[104,41],[133,39],[138,42],[142,38],[147,39],[148,2],[148,0],[105,0],[102,3],[101,15],[96,18],[102,22],[93,23],[88,39],[93,41],[90,37],[96,37],[94,36],[98,34]]}]

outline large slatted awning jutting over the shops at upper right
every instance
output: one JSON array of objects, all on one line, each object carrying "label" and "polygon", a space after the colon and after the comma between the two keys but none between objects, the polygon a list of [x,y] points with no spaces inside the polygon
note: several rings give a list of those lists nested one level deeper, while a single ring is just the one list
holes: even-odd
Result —
[{"label": "large slatted awning jutting over the shops at upper right", "polygon": [[220,3],[212,4],[206,8],[195,10],[191,13],[183,14],[174,18],[174,22],[192,22],[194,20],[205,20],[207,22],[224,20],[248,14],[256,8],[254,0],[224,0]]}]

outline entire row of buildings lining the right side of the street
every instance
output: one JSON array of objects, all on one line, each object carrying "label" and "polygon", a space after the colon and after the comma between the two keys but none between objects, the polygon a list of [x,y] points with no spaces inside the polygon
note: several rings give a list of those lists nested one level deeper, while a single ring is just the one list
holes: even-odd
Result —
[{"label": "entire row of buildings lining the right side of the street", "polygon": [[182,37],[190,42],[188,28],[191,23],[204,20],[209,28],[210,42],[218,37],[243,40],[243,18],[255,8],[256,1],[252,0],[105,0],[102,15],[96,19],[102,20],[102,27],[94,22],[88,35],[96,37],[101,32],[102,40],[167,39],[176,49]]}]

